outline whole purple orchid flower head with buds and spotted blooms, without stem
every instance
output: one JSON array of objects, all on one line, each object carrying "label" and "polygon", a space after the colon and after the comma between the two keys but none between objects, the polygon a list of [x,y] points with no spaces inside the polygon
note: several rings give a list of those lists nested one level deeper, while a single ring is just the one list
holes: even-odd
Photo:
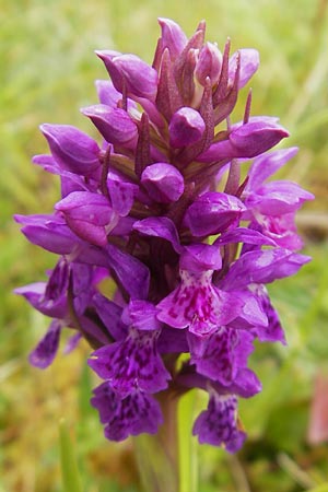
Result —
[{"label": "whole purple orchid flower head with buds and spotted blooms, without stem", "polygon": [[40,127],[50,155],[34,162],[59,175],[61,200],[15,220],[59,259],[47,282],[16,292],[52,318],[32,364],[52,362],[63,328],[67,351],[81,337],[94,349],[89,364],[104,382],[91,402],[108,438],[155,433],[163,396],[201,388],[209,405],[194,434],[235,452],[246,436],[237,399],[261,389],[247,367],[254,340],[284,343],[265,284],[309,260],[295,253],[294,215],[313,196],[268,180],[296,149],[268,152],[288,131],[250,116],[250,93],[232,122],[258,52],[231,56],[229,42],[221,52],[203,22],[190,39],[171,20],[160,26],[152,66],[97,51],[110,81],[96,81],[99,104],[82,114],[99,142]]}]

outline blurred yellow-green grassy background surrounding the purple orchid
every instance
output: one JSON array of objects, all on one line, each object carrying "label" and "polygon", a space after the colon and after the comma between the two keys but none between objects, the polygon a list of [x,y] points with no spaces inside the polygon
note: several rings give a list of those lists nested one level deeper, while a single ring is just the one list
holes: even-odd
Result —
[{"label": "blurred yellow-green grassy background surrounding the purple orchid", "polygon": [[327,11],[325,0],[0,0],[0,492],[62,490],[61,417],[85,491],[138,490],[130,443],[105,442],[89,406],[87,347],[59,355],[44,372],[27,363],[48,321],[12,290],[43,280],[55,257],[28,245],[12,214],[50,212],[59,198],[57,180],[30,162],[47,152],[38,126],[93,131],[79,108],[96,102],[93,81],[106,78],[94,49],[151,62],[157,16],[174,19],[188,35],[206,19],[207,38],[219,47],[230,36],[233,50],[260,51],[253,114],[280,116],[291,131],[284,144],[301,149],[283,176],[317,196],[298,215],[312,263],[270,289],[289,345],[257,347],[251,363],[263,391],[241,405],[249,440],[234,457],[199,446],[199,490],[328,491]]}]

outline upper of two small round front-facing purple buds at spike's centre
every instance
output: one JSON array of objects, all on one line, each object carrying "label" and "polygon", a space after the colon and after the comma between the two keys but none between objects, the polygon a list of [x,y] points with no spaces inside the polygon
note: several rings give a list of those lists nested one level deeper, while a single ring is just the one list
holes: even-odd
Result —
[{"label": "upper of two small round front-facing purple buds at spike's centre", "polygon": [[190,145],[201,139],[204,129],[204,120],[196,109],[181,107],[169,122],[169,143],[177,149]]}]

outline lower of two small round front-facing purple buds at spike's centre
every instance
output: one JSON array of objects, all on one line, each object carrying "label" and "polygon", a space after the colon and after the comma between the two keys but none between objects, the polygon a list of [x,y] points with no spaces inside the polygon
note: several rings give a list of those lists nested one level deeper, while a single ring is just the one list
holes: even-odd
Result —
[{"label": "lower of two small round front-facing purple buds at spike's centre", "polygon": [[152,164],[143,171],[141,183],[149,196],[161,203],[171,203],[184,192],[184,176],[166,163]]}]

